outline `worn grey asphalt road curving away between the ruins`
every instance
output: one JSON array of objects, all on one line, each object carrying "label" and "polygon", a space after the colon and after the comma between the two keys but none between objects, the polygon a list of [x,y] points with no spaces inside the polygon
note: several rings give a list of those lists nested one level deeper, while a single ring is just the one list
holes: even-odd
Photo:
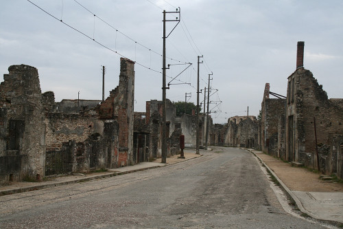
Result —
[{"label": "worn grey asphalt road curving away between the ruins", "polygon": [[0,197],[0,228],[324,228],[283,210],[247,151]]}]

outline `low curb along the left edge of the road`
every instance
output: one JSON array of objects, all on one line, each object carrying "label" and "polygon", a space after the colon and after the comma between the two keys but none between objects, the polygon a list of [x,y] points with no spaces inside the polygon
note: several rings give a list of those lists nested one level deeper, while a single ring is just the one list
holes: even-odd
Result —
[{"label": "low curb along the left edge of the road", "polygon": [[[202,155],[200,155],[202,156]],[[191,157],[187,160],[183,160],[181,162],[185,162],[194,158],[198,158],[198,157]],[[178,164],[181,162],[174,162],[172,164]],[[168,166],[171,164],[165,164],[165,166]],[[75,183],[81,183],[81,182],[89,182],[95,179],[105,179],[108,177],[115,177],[117,175],[124,175],[124,174],[128,174],[128,173],[135,173],[135,172],[139,172],[139,171],[145,171],[151,168],[160,168],[160,167],[164,167],[164,166],[152,166],[152,167],[147,167],[147,168],[137,168],[137,169],[132,169],[130,171],[123,171],[123,172],[113,172],[113,173],[107,173],[107,174],[102,174],[102,175],[94,175],[92,177],[84,177],[84,178],[80,178],[80,179],[73,179],[67,182],[55,182],[55,183],[51,183],[51,184],[38,184],[38,185],[33,185],[33,186],[28,186],[25,188],[14,188],[14,189],[9,189],[9,190],[2,190],[0,191],[0,197],[4,196],[4,195],[12,195],[12,194],[17,194],[17,193],[26,193],[26,192],[30,192],[30,191],[34,191],[34,190],[42,190],[42,189],[47,189],[47,188],[55,188],[55,187],[59,187],[59,186],[65,186],[68,184],[75,184]]]}]

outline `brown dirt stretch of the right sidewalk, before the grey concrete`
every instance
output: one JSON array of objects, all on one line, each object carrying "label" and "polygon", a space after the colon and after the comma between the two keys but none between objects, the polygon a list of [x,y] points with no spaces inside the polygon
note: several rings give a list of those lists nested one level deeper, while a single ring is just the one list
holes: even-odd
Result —
[{"label": "brown dirt stretch of the right sidewalk, before the grey concrete", "polygon": [[254,153],[274,171],[290,190],[324,193],[343,192],[343,183],[324,181],[319,179],[320,174],[311,172],[307,168],[294,167],[265,153]]}]

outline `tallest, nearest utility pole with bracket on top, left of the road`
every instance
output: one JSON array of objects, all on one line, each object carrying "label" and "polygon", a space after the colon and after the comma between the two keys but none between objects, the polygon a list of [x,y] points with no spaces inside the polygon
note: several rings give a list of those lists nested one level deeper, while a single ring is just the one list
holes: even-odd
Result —
[{"label": "tallest, nearest utility pole with bracket on top, left of the road", "polygon": [[[176,17],[176,20],[166,20],[165,14],[167,13],[178,13],[178,17]],[[162,163],[167,163],[167,131],[166,131],[166,124],[167,124],[167,118],[166,118],[166,110],[167,110],[167,102],[166,102],[166,89],[169,89],[166,86],[166,80],[165,80],[165,70],[167,67],[165,66],[165,39],[173,32],[173,30],[176,28],[178,23],[175,25],[173,30],[169,32],[167,36],[165,36],[165,22],[166,21],[177,21],[180,23],[180,8],[176,9],[176,12],[165,12],[163,10],[163,63],[162,63],[162,76],[163,76],[163,82],[162,82]]]}]

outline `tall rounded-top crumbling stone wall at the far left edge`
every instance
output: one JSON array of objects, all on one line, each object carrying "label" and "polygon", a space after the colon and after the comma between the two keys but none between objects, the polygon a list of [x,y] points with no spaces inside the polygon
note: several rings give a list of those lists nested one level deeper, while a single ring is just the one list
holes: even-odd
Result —
[{"label": "tall rounded-top crumbling stone wall at the far left edge", "polygon": [[38,70],[12,65],[0,85],[0,182],[45,175],[45,124]]}]

